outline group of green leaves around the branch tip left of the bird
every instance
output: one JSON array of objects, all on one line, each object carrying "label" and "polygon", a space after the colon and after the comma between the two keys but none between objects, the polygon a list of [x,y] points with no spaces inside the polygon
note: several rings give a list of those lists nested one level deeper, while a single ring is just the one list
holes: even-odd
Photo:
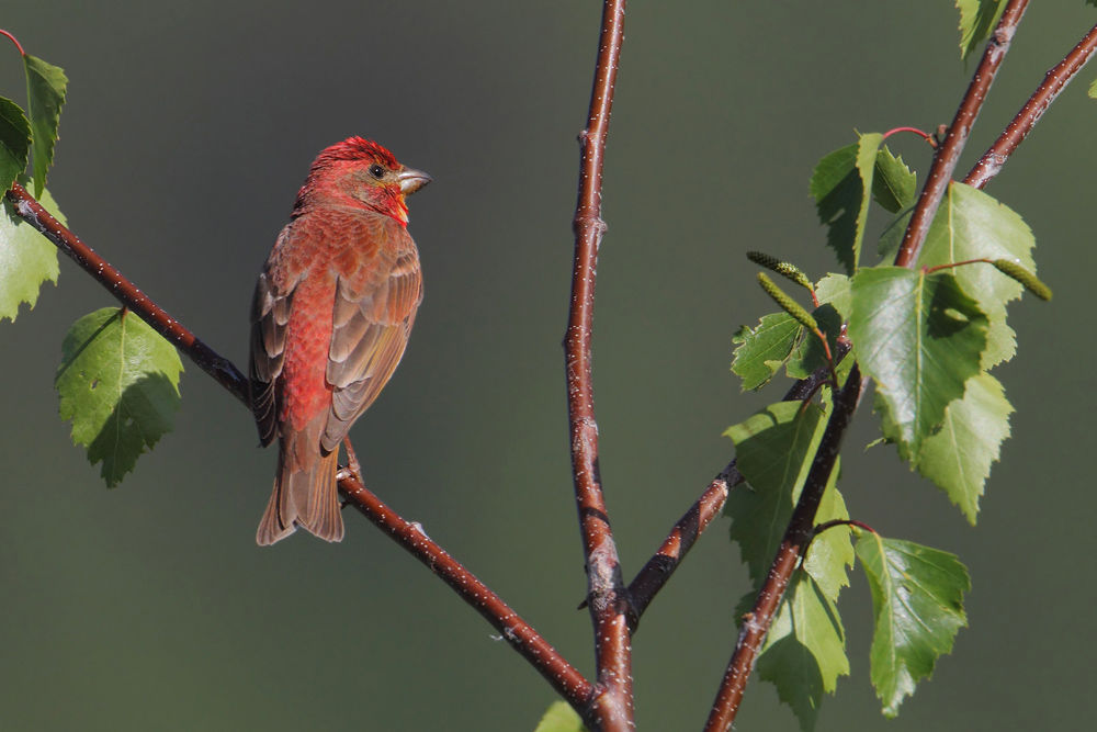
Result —
[{"label": "group of green leaves around the branch tip left of the bird", "polygon": [[[22,56],[30,114],[0,97],[0,190],[15,182],[33,187],[34,198],[64,225],[45,185],[68,79],[58,67]],[[14,320],[22,303],[34,307],[44,282],[56,284],[59,267],[57,248],[18,215],[8,198],[2,205],[0,320]],[[174,347],[125,309],[103,308],[69,329],[55,380],[60,416],[72,420],[72,440],[87,448],[88,460],[102,462],[109,487],[172,429],[182,370]]]}]

